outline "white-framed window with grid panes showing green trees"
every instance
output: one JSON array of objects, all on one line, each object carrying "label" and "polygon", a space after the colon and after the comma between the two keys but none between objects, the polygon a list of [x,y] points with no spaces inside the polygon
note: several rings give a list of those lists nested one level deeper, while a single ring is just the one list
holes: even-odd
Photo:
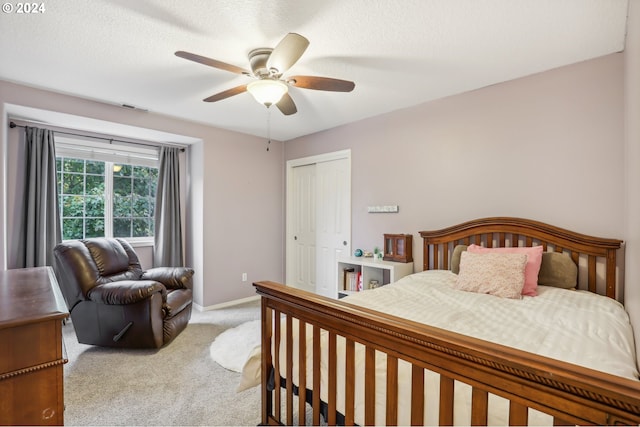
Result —
[{"label": "white-framed window with grid panes showing green trees", "polygon": [[64,240],[153,237],[157,150],[56,137],[56,155]]}]

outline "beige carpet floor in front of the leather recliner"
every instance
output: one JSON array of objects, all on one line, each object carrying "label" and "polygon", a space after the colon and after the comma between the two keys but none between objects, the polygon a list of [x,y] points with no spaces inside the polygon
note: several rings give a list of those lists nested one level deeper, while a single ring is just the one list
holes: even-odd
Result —
[{"label": "beige carpet floor in front of the leather recliner", "polygon": [[224,330],[258,319],[259,302],[194,311],[189,326],[159,350],[79,344],[63,327],[67,425],[252,425],[260,423],[259,387],[237,393],[240,374],[209,348]]}]

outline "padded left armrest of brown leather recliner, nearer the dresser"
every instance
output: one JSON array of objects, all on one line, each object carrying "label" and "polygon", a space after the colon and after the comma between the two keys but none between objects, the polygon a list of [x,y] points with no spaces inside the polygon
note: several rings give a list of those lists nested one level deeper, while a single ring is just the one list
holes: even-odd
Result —
[{"label": "padded left armrest of brown leather recliner, nearer the dresser", "polygon": [[154,280],[121,280],[94,286],[87,294],[93,302],[109,305],[125,305],[144,301],[154,293],[167,299],[167,289]]}]

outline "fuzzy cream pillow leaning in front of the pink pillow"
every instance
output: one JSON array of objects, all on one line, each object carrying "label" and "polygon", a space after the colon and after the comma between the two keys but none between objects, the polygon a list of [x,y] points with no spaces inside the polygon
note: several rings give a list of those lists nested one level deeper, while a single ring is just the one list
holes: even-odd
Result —
[{"label": "fuzzy cream pillow leaning in front of the pink pillow", "polygon": [[467,292],[520,299],[526,254],[462,252],[460,272],[453,286]]}]

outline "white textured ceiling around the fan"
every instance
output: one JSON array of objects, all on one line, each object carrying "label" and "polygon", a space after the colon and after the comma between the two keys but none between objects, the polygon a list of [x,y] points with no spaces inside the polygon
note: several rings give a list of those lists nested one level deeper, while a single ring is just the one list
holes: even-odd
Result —
[{"label": "white textured ceiling around the fan", "polygon": [[[627,0],[38,3],[43,13],[0,14],[0,79],[263,137],[270,121],[271,137],[283,141],[619,52],[627,17]],[[251,49],[274,47],[288,32],[311,44],[285,77],[352,80],[354,91],[292,87],[291,116],[269,113],[248,93],[205,103],[250,78],[174,55],[249,68]]]}]

